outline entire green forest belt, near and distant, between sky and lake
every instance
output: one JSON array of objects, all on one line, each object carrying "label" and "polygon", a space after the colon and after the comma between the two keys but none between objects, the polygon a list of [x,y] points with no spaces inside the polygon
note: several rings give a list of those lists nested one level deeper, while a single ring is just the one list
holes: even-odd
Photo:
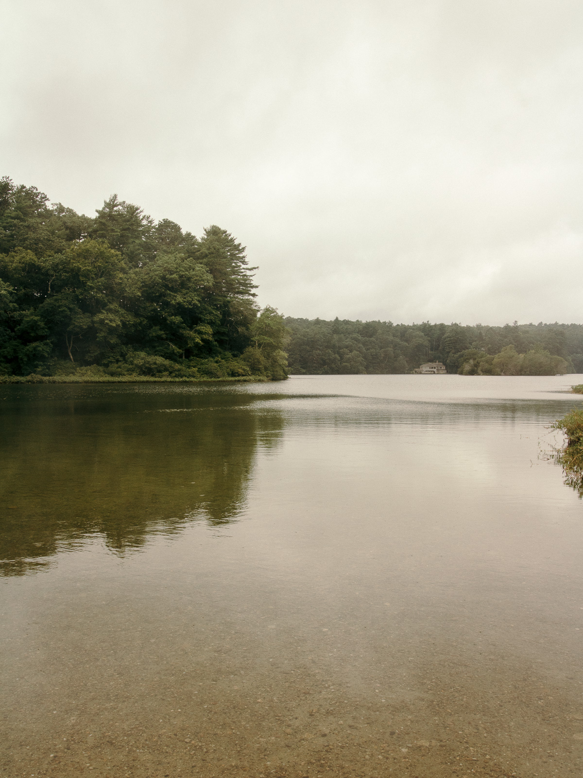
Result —
[{"label": "entire green forest belt, near and distant, between sky and lake", "polygon": [[583,372],[582,324],[284,318],[245,248],[113,195],[96,216],[0,179],[0,381],[282,380],[288,373]]}]

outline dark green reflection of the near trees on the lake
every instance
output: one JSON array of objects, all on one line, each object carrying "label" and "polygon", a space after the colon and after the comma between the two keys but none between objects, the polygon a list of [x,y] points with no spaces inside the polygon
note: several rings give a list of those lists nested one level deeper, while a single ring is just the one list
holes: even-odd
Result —
[{"label": "dark green reflection of the near trees on the lake", "polygon": [[46,566],[90,538],[124,555],[193,520],[238,520],[257,447],[277,446],[283,429],[279,412],[236,392],[25,390],[4,398],[5,575]]}]

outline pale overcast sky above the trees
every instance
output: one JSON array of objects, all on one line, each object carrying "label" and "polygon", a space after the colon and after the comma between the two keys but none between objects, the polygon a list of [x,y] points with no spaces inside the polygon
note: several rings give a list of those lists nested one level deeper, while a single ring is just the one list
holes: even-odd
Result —
[{"label": "pale overcast sky above the trees", "polygon": [[0,0],[0,174],[291,316],[583,322],[581,0]]}]

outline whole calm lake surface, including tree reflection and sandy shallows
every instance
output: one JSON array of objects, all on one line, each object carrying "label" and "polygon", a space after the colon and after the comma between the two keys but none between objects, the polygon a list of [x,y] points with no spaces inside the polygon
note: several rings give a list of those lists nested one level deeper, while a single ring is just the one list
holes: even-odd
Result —
[{"label": "whole calm lake surface, including tree reflection and sandy shallows", "polygon": [[580,776],[581,380],[0,387],[0,776]]}]

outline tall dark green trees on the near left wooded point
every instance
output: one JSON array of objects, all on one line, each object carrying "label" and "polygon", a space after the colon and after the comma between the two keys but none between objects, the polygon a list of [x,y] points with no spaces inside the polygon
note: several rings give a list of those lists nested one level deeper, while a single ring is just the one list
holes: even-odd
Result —
[{"label": "tall dark green trees on the near left wooded point", "polygon": [[245,249],[113,195],[82,216],[0,180],[0,374],[286,377]]}]

